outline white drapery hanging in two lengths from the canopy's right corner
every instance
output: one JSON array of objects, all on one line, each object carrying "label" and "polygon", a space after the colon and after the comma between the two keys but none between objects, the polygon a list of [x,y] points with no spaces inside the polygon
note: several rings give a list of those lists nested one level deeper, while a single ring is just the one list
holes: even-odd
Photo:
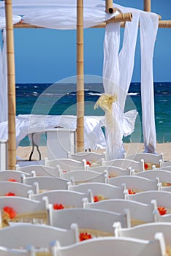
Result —
[{"label": "white drapery hanging in two lengths from the canopy's right corner", "polygon": [[[134,52],[137,42],[137,31],[140,21],[141,37],[141,90],[142,90],[142,127],[145,142],[145,151],[154,153],[156,148],[156,129],[154,123],[153,108],[153,46],[158,29],[158,16],[132,8],[124,8],[116,5],[122,12],[132,12],[131,23],[126,23],[123,37],[123,46],[119,52],[120,26],[108,24],[104,37],[104,92],[118,95],[118,100],[113,103],[113,130],[106,121],[107,150],[106,159],[123,157],[124,115],[123,109],[126,94],[132,80],[134,69]],[[150,26],[148,27],[148,23]],[[147,72],[148,69],[148,72]],[[148,75],[147,75],[148,74]],[[146,97],[146,94],[148,96]],[[137,112],[128,124],[134,125]],[[128,120],[128,118],[127,118]],[[144,122],[143,122],[144,121]],[[111,122],[111,121],[110,121]],[[148,123],[147,123],[148,122]],[[147,125],[148,124],[148,125]],[[129,133],[128,133],[129,134]],[[127,134],[127,135],[128,135]]]}]

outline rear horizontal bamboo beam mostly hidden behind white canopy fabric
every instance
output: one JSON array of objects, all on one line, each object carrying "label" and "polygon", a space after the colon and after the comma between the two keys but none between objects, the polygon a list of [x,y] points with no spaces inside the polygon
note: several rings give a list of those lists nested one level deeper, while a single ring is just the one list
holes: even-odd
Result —
[{"label": "rear horizontal bamboo beam mostly hidden behind white canopy fabric", "polygon": [[[99,25],[93,26],[92,28],[105,28],[106,23],[99,23]],[[121,27],[123,28],[125,26],[125,22],[121,22]],[[16,23],[14,25],[15,29],[45,29],[45,27],[42,26],[34,26],[26,23]],[[171,28],[171,20],[159,20],[159,28]]]}]

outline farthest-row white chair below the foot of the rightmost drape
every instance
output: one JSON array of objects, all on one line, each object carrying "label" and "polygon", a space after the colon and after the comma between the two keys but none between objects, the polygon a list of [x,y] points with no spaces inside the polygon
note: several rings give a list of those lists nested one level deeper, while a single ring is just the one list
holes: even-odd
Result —
[{"label": "farthest-row white chair below the foot of the rightmost drape", "polygon": [[160,162],[164,160],[163,153],[161,154],[151,154],[151,153],[136,153],[136,154],[124,154],[125,159],[131,159],[137,162],[140,162],[141,159],[144,160],[145,163],[152,165],[160,166]]}]

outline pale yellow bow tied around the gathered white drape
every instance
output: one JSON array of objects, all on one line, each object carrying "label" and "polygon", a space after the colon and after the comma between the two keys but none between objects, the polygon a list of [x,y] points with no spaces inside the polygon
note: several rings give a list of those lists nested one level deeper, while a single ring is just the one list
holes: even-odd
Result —
[{"label": "pale yellow bow tied around the gathered white drape", "polygon": [[102,108],[104,112],[112,110],[113,102],[117,100],[116,94],[102,94],[94,105],[94,109]]}]

